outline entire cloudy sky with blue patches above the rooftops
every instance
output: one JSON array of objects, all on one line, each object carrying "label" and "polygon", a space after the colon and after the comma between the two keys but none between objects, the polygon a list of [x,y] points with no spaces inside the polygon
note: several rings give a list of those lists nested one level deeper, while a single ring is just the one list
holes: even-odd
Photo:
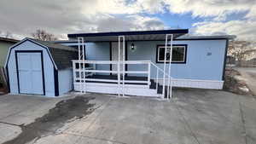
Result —
[{"label": "entire cloudy sky with blue patches above the rooftops", "polygon": [[[0,32],[67,33],[189,28],[193,35],[256,40],[255,0],[1,0]],[[0,33],[0,34],[1,34]]]}]

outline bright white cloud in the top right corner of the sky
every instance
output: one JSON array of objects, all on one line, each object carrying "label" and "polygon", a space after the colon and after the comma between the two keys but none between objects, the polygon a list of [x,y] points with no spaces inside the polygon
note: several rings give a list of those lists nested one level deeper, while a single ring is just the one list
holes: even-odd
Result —
[{"label": "bright white cloud in the top right corner of the sky", "polygon": [[[163,0],[168,9],[175,14],[191,13],[193,16],[209,17],[238,13],[253,12],[255,0]],[[250,16],[250,15],[249,15]]]}]

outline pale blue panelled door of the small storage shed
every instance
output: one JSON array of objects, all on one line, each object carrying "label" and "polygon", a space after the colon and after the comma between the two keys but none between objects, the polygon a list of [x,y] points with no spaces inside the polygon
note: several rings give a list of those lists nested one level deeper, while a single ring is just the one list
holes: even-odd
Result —
[{"label": "pale blue panelled door of the small storage shed", "polygon": [[20,93],[44,95],[41,53],[17,53]]}]

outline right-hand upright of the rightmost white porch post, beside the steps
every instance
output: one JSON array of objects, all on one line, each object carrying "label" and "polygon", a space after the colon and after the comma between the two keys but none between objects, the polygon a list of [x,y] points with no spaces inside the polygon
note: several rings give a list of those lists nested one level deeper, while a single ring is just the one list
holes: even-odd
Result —
[{"label": "right-hand upright of the rightmost white porch post, beside the steps", "polygon": [[167,99],[172,98],[171,64],[172,64],[172,40],[173,40],[173,34],[171,34],[170,36],[171,36],[171,47],[170,47],[170,59],[169,59],[169,71],[168,71]]}]

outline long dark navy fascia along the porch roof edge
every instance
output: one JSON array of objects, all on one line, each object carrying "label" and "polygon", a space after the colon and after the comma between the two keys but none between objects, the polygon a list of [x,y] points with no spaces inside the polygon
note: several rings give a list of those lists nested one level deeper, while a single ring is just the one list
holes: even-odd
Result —
[{"label": "long dark navy fascia along the porch roof edge", "polygon": [[128,31],[128,32],[96,32],[96,33],[73,33],[67,34],[67,37],[104,37],[104,36],[127,36],[127,35],[148,35],[148,34],[186,34],[189,29],[177,30],[159,30],[159,31]]}]

